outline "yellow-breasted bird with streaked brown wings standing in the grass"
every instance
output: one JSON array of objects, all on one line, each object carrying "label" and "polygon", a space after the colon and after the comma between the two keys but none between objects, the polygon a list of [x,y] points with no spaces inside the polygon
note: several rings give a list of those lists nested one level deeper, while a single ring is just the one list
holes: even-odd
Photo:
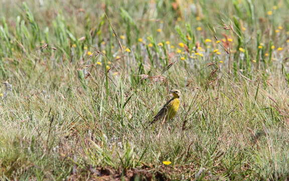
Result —
[{"label": "yellow-breasted bird with streaked brown wings standing in the grass", "polygon": [[164,121],[174,118],[177,114],[177,111],[180,107],[180,96],[181,92],[178,89],[172,89],[170,91],[173,94],[173,98],[170,99],[159,113],[154,117],[154,120],[150,123],[154,124],[156,121],[163,119]]}]

